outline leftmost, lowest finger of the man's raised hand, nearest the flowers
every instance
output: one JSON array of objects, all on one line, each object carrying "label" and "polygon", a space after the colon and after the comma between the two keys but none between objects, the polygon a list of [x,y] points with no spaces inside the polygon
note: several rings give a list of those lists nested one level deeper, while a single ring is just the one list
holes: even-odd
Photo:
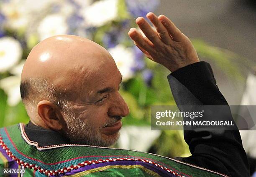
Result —
[{"label": "leftmost, lowest finger of the man's raised hand, nearest the flowers", "polygon": [[[143,49],[144,51],[150,52],[152,50],[152,44],[150,41],[146,40],[145,37],[141,35],[136,28],[131,28],[128,32],[128,35],[136,43],[136,45]],[[143,52],[143,51],[142,51]]]}]

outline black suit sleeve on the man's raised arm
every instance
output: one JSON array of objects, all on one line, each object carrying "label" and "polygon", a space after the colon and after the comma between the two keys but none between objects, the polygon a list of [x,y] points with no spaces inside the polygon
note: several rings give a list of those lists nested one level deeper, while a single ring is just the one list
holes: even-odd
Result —
[{"label": "black suit sleeve on the man's raised arm", "polygon": [[[197,62],[168,75],[177,105],[228,105],[216,84],[210,64]],[[192,154],[177,160],[205,167],[230,177],[249,177],[241,136],[235,131],[184,130]]]}]

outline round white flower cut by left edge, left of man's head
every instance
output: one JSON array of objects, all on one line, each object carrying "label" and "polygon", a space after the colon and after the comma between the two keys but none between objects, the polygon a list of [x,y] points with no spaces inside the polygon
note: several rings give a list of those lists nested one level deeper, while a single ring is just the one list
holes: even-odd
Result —
[{"label": "round white flower cut by left edge, left of man's head", "polygon": [[0,72],[7,71],[22,56],[22,47],[13,37],[0,38]]}]

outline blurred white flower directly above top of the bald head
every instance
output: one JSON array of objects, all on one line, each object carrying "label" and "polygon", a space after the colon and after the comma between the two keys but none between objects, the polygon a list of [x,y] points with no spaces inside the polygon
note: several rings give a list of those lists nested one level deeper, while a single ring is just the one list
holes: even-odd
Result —
[{"label": "blurred white flower directly above top of the bald head", "polygon": [[40,40],[54,35],[66,34],[68,30],[65,17],[59,14],[52,14],[46,16],[38,26],[38,33]]}]

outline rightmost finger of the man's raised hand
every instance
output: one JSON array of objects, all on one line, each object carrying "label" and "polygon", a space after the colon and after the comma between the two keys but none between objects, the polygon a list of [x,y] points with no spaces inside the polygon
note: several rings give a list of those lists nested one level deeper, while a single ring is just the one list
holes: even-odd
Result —
[{"label": "rightmost finger of the man's raised hand", "polygon": [[169,20],[164,15],[159,15],[158,19],[161,21],[161,23],[164,25],[168,33],[172,36],[174,41],[181,41],[182,40],[182,32],[174,25],[174,23]]}]

